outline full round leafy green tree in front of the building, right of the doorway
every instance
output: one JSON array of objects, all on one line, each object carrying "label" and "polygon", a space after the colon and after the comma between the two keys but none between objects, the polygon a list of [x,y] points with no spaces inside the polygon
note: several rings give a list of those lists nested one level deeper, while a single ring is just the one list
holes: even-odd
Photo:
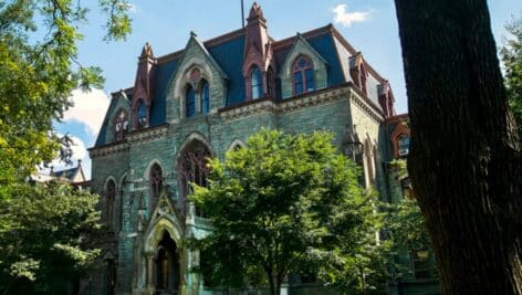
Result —
[{"label": "full round leafy green tree in front of the building, right of the doorway", "polygon": [[199,241],[212,283],[237,286],[252,274],[250,284],[275,293],[292,272],[315,273],[345,291],[374,287],[354,273],[374,282],[380,266],[375,196],[362,189],[359,169],[331,140],[325,133],[262,130],[248,148],[210,160],[210,189],[194,186],[194,200],[213,222]]}]

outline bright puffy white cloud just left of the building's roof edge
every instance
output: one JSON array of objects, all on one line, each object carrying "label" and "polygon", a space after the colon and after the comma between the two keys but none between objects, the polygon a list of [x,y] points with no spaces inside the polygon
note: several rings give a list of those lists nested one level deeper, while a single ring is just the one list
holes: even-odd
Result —
[{"label": "bright puffy white cloud just left of the building's roof edge", "polygon": [[88,134],[96,135],[108,107],[107,95],[96,88],[91,92],[75,89],[70,101],[72,101],[73,106],[63,114],[63,120],[81,123],[85,125]]}]

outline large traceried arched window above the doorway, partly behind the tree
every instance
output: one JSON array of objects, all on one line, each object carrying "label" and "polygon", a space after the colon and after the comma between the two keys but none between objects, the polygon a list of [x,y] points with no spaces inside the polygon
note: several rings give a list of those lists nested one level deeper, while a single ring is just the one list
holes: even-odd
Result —
[{"label": "large traceried arched window above the doorway, partly behind the tree", "polygon": [[208,158],[210,158],[210,151],[198,140],[194,140],[179,158],[178,171],[180,177],[180,206],[182,210],[186,197],[191,193],[190,183],[201,187],[208,186]]}]

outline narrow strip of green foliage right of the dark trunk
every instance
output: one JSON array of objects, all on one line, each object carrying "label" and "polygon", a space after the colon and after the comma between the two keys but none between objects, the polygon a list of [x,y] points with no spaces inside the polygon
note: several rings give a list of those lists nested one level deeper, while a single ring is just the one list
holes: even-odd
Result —
[{"label": "narrow strip of green foliage right of the dark trunk", "polygon": [[500,50],[500,55],[505,70],[509,104],[519,126],[519,138],[522,140],[522,19],[513,20],[505,29],[512,39]]}]

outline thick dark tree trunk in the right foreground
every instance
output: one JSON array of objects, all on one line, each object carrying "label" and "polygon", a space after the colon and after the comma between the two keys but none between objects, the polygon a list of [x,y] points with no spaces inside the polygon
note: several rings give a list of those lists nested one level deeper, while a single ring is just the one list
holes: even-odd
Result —
[{"label": "thick dark tree trunk in the right foreground", "polygon": [[486,0],[396,0],[408,170],[445,294],[522,294],[522,160]]}]

